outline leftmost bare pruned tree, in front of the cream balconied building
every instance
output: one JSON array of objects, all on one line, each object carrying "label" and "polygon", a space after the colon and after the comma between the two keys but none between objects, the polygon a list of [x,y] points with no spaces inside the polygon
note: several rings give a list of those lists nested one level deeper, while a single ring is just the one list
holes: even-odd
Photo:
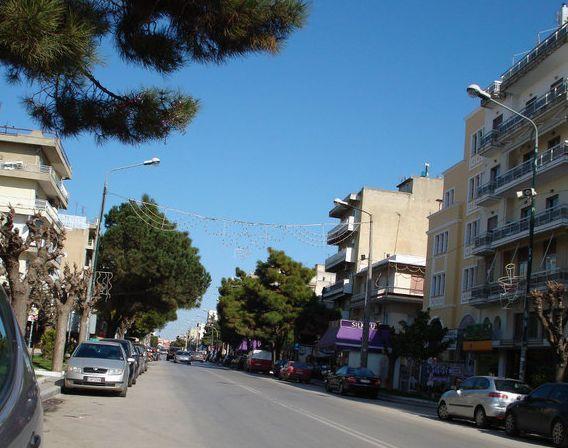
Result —
[{"label": "leftmost bare pruned tree, in front of the cream balconied building", "polygon": [[[56,261],[63,255],[65,232],[57,231],[45,217],[35,213],[26,221],[28,232],[24,237],[14,223],[15,216],[12,207],[0,216],[0,260],[8,280],[12,308],[24,331],[30,304],[41,295],[45,277],[54,272]],[[21,273],[20,260],[26,252],[29,262]]]}]

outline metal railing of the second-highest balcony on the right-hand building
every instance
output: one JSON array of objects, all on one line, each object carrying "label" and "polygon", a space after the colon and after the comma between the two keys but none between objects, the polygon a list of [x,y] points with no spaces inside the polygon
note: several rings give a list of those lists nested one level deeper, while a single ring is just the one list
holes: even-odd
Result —
[{"label": "metal railing of the second-highest balcony on the right-hand building", "polygon": [[[521,114],[528,118],[536,118],[541,113],[549,109],[551,106],[566,100],[566,93],[568,92],[568,82],[564,81],[558,87],[549,90],[544,95],[537,97],[524,109],[519,111]],[[496,129],[487,133],[481,139],[480,153],[483,154],[487,152],[489,148],[494,147],[499,144],[501,139],[512,132],[513,130],[519,128],[520,126],[526,124],[526,120],[519,117],[518,115],[512,115],[507,120],[499,125]]]}]

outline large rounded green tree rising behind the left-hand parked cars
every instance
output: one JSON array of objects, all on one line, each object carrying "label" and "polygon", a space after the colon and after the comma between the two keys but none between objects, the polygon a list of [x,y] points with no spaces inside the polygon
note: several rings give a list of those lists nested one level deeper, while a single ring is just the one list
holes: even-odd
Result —
[{"label": "large rounded green tree rising behind the left-hand parked cars", "polygon": [[105,219],[99,260],[100,270],[113,274],[112,290],[97,307],[109,336],[124,334],[136,322],[146,332],[163,326],[162,318],[175,319],[177,309],[198,306],[211,282],[188,234],[176,230],[152,199],[142,199],[143,205],[113,207]]}]

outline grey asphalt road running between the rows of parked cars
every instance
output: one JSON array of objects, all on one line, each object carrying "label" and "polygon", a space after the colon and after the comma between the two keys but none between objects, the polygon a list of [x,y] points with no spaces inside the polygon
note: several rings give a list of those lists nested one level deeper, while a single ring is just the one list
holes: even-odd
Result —
[{"label": "grey asphalt road running between the rows of parked cars", "polygon": [[547,446],[440,422],[431,410],[340,397],[207,364],[153,363],[126,398],[60,396],[45,411],[46,448],[479,448]]}]

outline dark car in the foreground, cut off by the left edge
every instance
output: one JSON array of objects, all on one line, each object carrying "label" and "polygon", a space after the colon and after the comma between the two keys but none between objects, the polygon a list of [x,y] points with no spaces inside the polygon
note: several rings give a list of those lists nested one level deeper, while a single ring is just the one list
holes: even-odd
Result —
[{"label": "dark car in the foreground, cut off by the left edge", "polygon": [[0,288],[0,446],[39,447],[42,425],[43,410],[32,363]]}]

